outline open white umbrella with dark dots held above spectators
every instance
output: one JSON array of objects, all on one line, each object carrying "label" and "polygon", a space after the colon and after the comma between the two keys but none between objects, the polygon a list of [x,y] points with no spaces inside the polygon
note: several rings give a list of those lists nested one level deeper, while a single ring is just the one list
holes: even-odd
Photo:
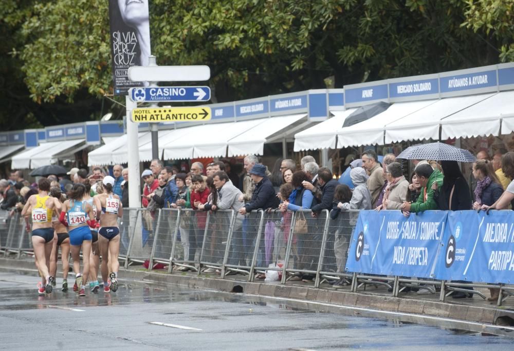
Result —
[{"label": "open white umbrella with dark dots held above spectators", "polygon": [[420,144],[403,150],[397,159],[475,162],[476,157],[468,150],[445,143]]}]

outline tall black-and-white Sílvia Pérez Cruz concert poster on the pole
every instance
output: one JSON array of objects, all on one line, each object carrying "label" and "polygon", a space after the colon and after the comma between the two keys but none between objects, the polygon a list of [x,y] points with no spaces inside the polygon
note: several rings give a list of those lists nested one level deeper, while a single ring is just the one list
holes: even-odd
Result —
[{"label": "tall black-and-white S\u00edlvia P\u00e9rez Cruz concert poster on the pole", "polygon": [[148,0],[109,0],[114,95],[143,86],[128,79],[128,68],[148,66],[150,21]]}]

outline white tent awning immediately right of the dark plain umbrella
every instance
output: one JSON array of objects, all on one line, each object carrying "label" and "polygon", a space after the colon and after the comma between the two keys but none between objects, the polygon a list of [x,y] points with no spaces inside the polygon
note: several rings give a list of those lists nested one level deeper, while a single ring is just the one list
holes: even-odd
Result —
[{"label": "white tent awning immediately right of the dark plain umbrella", "polygon": [[384,128],[413,112],[426,108],[437,100],[396,102],[386,111],[366,119],[356,125],[337,131],[337,147],[361,145],[383,145]]}]

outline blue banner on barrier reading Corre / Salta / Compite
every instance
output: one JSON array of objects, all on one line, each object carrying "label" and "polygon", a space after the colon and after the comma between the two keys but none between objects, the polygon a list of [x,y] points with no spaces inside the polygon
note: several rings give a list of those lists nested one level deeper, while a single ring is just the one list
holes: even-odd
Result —
[{"label": "blue banner on barrier reading Corre / Salta / Compite", "polygon": [[400,211],[362,210],[346,270],[432,278],[446,215],[426,211],[406,218]]}]

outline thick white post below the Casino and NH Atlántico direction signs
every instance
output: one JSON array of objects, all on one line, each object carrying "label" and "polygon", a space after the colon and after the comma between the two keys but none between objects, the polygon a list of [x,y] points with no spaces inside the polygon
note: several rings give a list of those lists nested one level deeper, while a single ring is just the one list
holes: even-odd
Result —
[{"label": "thick white post below the Casino and NH Atl\u00e1ntico direction signs", "polygon": [[132,110],[137,108],[137,102],[125,96],[126,126],[127,126],[127,152],[128,152],[128,207],[141,207],[139,195],[139,140],[138,125],[132,122]]}]

